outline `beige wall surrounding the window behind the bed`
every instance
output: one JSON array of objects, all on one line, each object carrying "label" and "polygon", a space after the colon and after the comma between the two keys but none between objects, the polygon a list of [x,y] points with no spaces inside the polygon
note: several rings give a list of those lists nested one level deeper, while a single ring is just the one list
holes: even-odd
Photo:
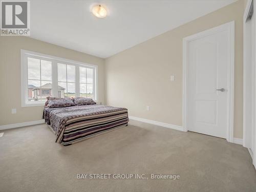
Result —
[{"label": "beige wall surrounding the window behind the bed", "polygon": [[[98,66],[99,102],[104,101],[104,59],[28,37],[0,37],[0,125],[40,120],[42,106],[21,107],[20,49]],[[11,114],[16,108],[17,113]]]}]

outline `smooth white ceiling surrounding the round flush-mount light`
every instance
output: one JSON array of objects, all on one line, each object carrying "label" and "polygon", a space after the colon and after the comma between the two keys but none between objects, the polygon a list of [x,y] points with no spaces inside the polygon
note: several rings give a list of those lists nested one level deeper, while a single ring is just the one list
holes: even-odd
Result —
[{"label": "smooth white ceiling surrounding the round flush-mount light", "polygon": [[[106,58],[233,2],[32,0],[31,37]],[[108,8],[107,17],[90,12],[95,3]]]}]

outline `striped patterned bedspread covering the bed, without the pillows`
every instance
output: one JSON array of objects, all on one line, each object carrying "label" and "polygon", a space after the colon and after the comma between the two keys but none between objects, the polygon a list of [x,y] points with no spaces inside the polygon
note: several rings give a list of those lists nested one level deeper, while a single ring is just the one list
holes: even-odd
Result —
[{"label": "striped patterned bedspread covering the bed, without the pillows", "polygon": [[127,125],[125,108],[105,105],[76,105],[45,108],[44,118],[56,135],[56,142],[69,145]]}]

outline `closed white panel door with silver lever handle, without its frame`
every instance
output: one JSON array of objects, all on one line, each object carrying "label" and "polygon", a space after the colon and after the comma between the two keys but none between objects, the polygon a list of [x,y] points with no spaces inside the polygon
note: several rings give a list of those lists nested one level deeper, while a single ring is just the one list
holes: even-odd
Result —
[{"label": "closed white panel door with silver lever handle, without its frame", "polygon": [[188,131],[227,137],[230,47],[230,32],[225,27],[188,42]]}]

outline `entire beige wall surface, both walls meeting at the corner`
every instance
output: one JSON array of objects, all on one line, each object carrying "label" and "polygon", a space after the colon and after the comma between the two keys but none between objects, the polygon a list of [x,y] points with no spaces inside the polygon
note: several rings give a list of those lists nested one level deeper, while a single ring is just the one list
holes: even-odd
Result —
[{"label": "entire beige wall surface, both walls meeting at the corner", "polygon": [[[0,125],[41,119],[41,106],[21,107],[20,49],[98,65],[100,102],[125,106],[131,116],[182,125],[182,38],[235,20],[234,137],[242,138],[245,5],[240,0],[105,60],[28,37],[1,36]],[[169,81],[172,74],[175,82]],[[12,108],[17,114],[11,114]]]}]

